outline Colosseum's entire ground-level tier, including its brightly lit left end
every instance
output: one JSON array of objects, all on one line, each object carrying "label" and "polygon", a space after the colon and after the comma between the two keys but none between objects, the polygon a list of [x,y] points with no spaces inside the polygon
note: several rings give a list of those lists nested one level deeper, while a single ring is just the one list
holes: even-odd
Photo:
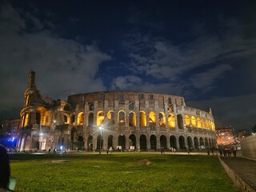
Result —
[{"label": "Colosseum's entire ground-level tier, including its brightly lit left end", "polygon": [[193,134],[44,134],[34,132],[18,137],[17,150],[195,150],[216,147],[212,135]]}]

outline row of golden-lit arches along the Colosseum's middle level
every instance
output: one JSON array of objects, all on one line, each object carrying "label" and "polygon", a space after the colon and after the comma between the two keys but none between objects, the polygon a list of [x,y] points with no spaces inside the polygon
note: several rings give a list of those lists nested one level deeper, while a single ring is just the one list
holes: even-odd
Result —
[{"label": "row of golden-lit arches along the Colosseum's middle level", "polygon": [[[138,118],[137,118],[138,117]],[[103,111],[98,111],[96,113],[96,118],[94,118],[94,113],[90,113],[88,115],[88,126],[101,126],[105,124],[105,118],[107,118],[107,123],[114,124],[114,111],[110,110],[107,112],[106,117]],[[65,118],[68,121],[68,117]],[[77,118],[78,125],[84,125],[85,116],[83,112],[78,114]],[[137,121],[138,119],[138,121]],[[147,115],[145,111],[140,111],[137,115],[134,111],[130,111],[127,115],[124,110],[119,110],[117,115],[118,126],[126,125],[128,122],[129,126],[168,126],[169,128],[175,128],[176,123],[178,123],[178,128],[182,129],[184,126],[186,127],[198,127],[198,128],[206,128],[210,130],[214,130],[214,122],[210,121],[206,118],[195,118],[194,116],[185,115],[183,123],[183,116],[182,114],[177,115],[177,122],[174,116],[174,113],[168,113],[167,117],[164,112],[160,112],[158,115],[155,114],[154,111],[150,111]],[[95,123],[94,123],[95,122]],[[70,124],[75,124],[74,114],[71,115]]]}]

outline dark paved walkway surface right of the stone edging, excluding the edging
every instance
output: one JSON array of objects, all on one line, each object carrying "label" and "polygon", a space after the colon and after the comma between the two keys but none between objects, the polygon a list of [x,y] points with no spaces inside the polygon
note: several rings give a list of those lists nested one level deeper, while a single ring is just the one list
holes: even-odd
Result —
[{"label": "dark paved walkway surface right of the stone edging, excluding the edging", "polygon": [[242,157],[222,157],[222,161],[234,170],[245,182],[256,191],[256,161]]}]

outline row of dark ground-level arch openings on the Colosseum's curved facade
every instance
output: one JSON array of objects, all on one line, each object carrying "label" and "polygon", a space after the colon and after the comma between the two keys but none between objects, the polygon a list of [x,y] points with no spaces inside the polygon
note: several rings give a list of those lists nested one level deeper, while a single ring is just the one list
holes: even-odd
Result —
[{"label": "row of dark ground-level arch openings on the Colosseum's curved facade", "polygon": [[[78,146],[77,149],[82,149],[82,136],[78,137]],[[105,141],[106,139],[106,141]],[[117,139],[117,142],[114,142],[114,139]],[[94,146],[96,145],[96,146]],[[102,135],[94,137],[93,135],[88,136],[86,149],[85,150],[108,150],[113,148],[114,150],[122,149],[129,150],[130,146],[133,146],[132,149],[140,150],[158,150],[161,147],[168,150],[171,147],[180,150],[186,149],[210,149],[216,146],[216,141],[213,138],[198,138],[198,137],[185,137],[183,135],[176,137],[171,135],[167,139],[166,135],[161,135],[157,138],[156,135],[152,134],[149,138],[146,137],[146,134],[140,135],[138,138],[135,134],[130,134],[129,137],[124,134],[119,134],[118,138],[114,138],[113,135],[108,135],[104,138]]]}]

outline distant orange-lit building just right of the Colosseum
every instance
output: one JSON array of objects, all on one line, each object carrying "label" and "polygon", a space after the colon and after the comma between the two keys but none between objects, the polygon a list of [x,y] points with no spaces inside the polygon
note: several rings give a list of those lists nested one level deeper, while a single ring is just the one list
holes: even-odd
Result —
[{"label": "distant orange-lit building just right of the Colosseum", "polygon": [[216,136],[218,145],[228,145],[234,143],[234,134],[231,127],[216,127]]}]

